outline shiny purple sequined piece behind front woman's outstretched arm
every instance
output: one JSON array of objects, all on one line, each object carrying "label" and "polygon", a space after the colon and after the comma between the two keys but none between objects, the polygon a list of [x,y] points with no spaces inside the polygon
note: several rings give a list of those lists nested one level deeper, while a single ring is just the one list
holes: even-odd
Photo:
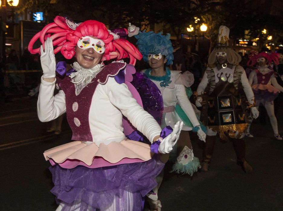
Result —
[{"label": "shiny purple sequined piece behind front woman's outstretched arm", "polygon": [[131,84],[136,87],[143,101],[143,109],[149,112],[161,124],[163,100],[158,87],[142,72],[133,75]]}]

